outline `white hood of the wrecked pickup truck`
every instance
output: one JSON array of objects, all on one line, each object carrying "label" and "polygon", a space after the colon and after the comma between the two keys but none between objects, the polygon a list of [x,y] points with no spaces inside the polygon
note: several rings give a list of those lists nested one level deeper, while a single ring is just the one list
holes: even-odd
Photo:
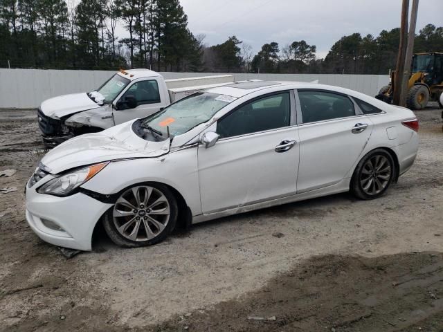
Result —
[{"label": "white hood of the wrecked pickup truck", "polygon": [[60,119],[69,114],[86,111],[87,109],[97,109],[100,105],[93,102],[86,92],[73,93],[71,95],[59,95],[42,102],[40,109],[45,116]]}]

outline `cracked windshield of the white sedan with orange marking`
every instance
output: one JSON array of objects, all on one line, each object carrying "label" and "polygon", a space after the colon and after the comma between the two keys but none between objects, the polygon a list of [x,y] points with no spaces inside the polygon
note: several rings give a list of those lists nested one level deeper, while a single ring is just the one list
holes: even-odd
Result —
[{"label": "cracked windshield of the white sedan with orange marking", "polygon": [[217,111],[235,99],[237,98],[230,95],[197,92],[145,118],[141,125],[164,134],[168,132],[167,127],[169,127],[170,135],[181,135],[198,124],[208,121]]}]

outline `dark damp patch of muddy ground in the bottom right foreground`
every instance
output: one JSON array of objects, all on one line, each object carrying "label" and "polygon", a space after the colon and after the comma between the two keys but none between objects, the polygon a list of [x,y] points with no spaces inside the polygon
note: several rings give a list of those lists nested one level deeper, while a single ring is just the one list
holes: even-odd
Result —
[{"label": "dark damp patch of muddy ground in the bottom right foreground", "polygon": [[143,331],[442,331],[442,266],[435,252],[312,257],[260,290]]}]

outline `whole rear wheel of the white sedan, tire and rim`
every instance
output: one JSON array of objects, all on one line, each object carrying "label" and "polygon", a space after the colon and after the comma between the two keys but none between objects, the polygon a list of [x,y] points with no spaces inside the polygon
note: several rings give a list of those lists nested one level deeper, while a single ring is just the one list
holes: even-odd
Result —
[{"label": "whole rear wheel of the white sedan, tire and rim", "polygon": [[370,151],[354,171],[351,191],[359,199],[377,199],[388,190],[395,172],[395,163],[388,151]]}]

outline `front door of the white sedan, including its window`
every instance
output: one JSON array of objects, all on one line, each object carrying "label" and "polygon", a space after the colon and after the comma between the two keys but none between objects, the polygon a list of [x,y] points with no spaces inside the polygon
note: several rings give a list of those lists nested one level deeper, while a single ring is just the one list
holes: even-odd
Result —
[{"label": "front door of the white sedan, including its window", "polygon": [[289,92],[267,95],[217,122],[219,141],[199,146],[204,214],[296,193],[298,129]]}]

